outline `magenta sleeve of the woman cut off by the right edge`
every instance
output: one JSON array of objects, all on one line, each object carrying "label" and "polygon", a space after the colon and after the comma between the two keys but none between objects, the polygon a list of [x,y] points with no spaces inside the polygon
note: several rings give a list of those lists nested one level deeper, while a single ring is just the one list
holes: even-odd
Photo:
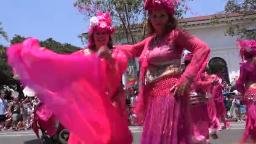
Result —
[{"label": "magenta sleeve of the woman cut off by the right edge", "polygon": [[238,80],[235,83],[235,87],[237,88],[237,91],[240,92],[241,94],[245,93],[245,80],[246,80],[246,70],[243,67],[243,65],[240,66],[240,76]]}]

